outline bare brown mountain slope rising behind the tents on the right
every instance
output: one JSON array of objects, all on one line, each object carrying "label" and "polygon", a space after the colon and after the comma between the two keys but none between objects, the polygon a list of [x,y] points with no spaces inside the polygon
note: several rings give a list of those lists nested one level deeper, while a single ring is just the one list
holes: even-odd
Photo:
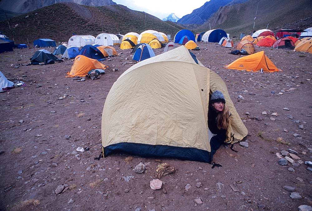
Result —
[{"label": "bare brown mountain slope rising behind the tents on the right", "polygon": [[[257,4],[259,2],[255,29],[253,29]],[[220,7],[220,9],[196,32],[204,32],[211,28],[221,28],[230,35],[248,34],[254,30],[274,29],[285,24],[298,21],[311,15],[310,0],[251,0],[241,4]]]}]

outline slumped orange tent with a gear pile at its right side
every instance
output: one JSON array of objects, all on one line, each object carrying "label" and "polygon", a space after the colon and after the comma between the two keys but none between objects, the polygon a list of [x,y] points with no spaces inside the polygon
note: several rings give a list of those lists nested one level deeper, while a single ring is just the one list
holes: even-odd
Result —
[{"label": "slumped orange tent with a gear pile at its right side", "polygon": [[66,77],[80,76],[84,77],[88,75],[90,70],[103,69],[105,70],[108,66],[101,64],[96,59],[90,59],[83,55],[76,56],[74,64],[71,67],[71,71],[67,73]]}]

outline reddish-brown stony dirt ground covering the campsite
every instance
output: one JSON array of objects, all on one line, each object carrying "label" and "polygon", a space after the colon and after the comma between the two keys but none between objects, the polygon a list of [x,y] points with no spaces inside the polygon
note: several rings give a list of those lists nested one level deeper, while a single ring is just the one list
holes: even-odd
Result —
[{"label": "reddish-brown stony dirt ground covering the campsite", "polygon": [[[213,169],[208,163],[163,157],[94,159],[101,151],[106,96],[134,65],[131,50],[116,49],[120,56],[101,61],[109,66],[106,73],[85,81],[65,77],[73,59],[25,66],[38,49],[1,53],[2,73],[27,86],[0,93],[0,210],[298,210],[312,205],[312,172],[304,163],[312,160],[312,55],[256,47],[282,71],[252,73],[224,68],[240,57],[228,54],[234,48],[198,45],[201,50],[193,53],[225,81],[249,135],[248,147],[234,145],[238,152],[222,146],[214,155],[222,167]],[[90,150],[72,155],[77,147]],[[282,166],[275,153],[288,149],[300,158]],[[140,162],[146,165],[142,174],[133,171]],[[161,178],[162,189],[152,190],[150,181],[157,179],[162,163],[177,171]],[[59,185],[65,189],[56,194]],[[302,199],[290,198],[285,185]]]}]

